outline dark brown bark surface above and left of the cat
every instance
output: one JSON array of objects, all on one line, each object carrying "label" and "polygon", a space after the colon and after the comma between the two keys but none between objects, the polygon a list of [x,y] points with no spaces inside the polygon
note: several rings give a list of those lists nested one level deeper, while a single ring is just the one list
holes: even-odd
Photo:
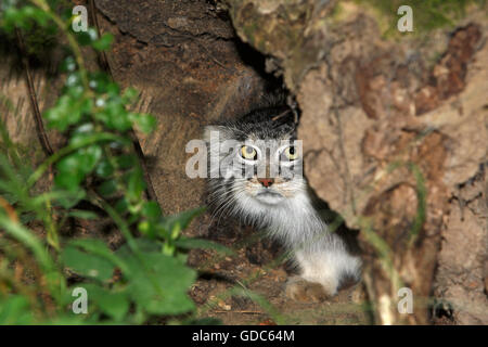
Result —
[{"label": "dark brown bark surface above and left of the cat", "polygon": [[[243,63],[224,12],[206,1],[97,0],[102,31],[116,38],[110,54],[114,78],[142,91],[138,107],[157,117],[141,144],[163,210],[175,214],[203,204],[205,182],[190,179],[184,152],[203,126],[245,113],[265,80]],[[108,21],[107,21],[108,20]],[[208,234],[205,222],[190,234]]]}]

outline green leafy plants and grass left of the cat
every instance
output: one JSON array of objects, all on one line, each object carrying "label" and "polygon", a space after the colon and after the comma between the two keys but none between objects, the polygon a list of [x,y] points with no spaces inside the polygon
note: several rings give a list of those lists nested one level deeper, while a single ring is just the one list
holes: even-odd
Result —
[{"label": "green leafy plants and grass left of the cat", "polygon": [[[103,72],[88,72],[79,50],[104,51],[113,37],[98,38],[94,28],[70,31],[70,18],[52,10],[55,1],[0,4],[1,30],[61,31],[70,52],[61,66],[66,75],[62,93],[43,114],[49,128],[67,136],[66,146],[30,167],[0,124],[0,324],[142,324],[154,317],[191,313],[195,307],[187,292],[196,273],[185,265],[184,249],[224,248],[181,236],[203,209],[168,217],[156,202],[144,200],[130,131],[150,132],[155,119],[128,111],[138,92],[121,91]],[[54,185],[39,193],[34,187],[50,167]],[[81,209],[80,202],[94,207]],[[60,236],[67,218],[97,219],[101,210],[125,237],[119,249],[101,240]],[[46,236],[29,229],[34,224],[42,224]],[[88,293],[87,314],[72,310],[78,287]]]}]

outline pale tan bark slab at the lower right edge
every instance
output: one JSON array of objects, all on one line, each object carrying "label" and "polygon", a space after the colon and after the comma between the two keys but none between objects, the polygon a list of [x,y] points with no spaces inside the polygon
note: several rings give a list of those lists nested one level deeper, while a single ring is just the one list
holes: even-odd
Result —
[{"label": "pale tan bark slab at the lower right edge", "polygon": [[488,180],[486,166],[459,187],[442,229],[435,283],[438,323],[488,322]]}]

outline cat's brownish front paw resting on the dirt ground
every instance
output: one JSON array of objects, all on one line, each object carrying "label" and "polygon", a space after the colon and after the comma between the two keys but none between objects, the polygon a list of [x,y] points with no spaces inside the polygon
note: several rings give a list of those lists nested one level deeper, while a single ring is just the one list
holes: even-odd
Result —
[{"label": "cat's brownish front paw resting on the dirt ground", "polygon": [[322,303],[332,297],[320,283],[308,282],[300,277],[286,281],[286,297],[299,303]]}]

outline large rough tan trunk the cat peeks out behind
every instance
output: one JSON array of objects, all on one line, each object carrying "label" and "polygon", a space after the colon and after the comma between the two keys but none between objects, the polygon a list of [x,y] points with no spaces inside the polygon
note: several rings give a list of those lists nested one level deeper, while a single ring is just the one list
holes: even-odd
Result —
[{"label": "large rough tan trunk the cat peeks out behind", "polygon": [[[374,18],[351,3],[339,22],[328,16],[332,1],[227,3],[240,37],[272,55],[269,70],[297,95],[310,185],[349,228],[361,230],[377,321],[429,321],[442,234],[436,295],[476,303],[473,311],[457,306],[455,323],[487,323],[486,208],[479,207],[486,187],[472,188],[478,207],[464,221],[449,204],[452,196],[465,200],[459,184],[487,160],[486,17],[467,16],[448,40],[394,42],[381,39]],[[429,64],[433,49],[440,59]],[[453,229],[471,245],[463,256],[476,260],[450,257],[461,252]],[[465,274],[473,277],[466,283],[457,274],[467,268],[476,271]],[[397,311],[400,286],[413,292],[413,314]]]}]

